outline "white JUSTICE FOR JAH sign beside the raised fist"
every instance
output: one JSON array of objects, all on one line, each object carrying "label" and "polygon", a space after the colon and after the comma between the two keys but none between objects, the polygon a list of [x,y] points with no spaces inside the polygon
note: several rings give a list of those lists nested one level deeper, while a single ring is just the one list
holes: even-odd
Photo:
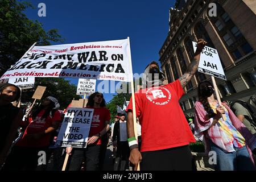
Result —
[{"label": "white JUSTICE FOR JAH sign beside the raised fist", "polygon": [[[197,43],[192,43],[194,51],[196,51]],[[226,80],[217,50],[208,46],[205,46],[201,52],[198,71],[207,75],[221,78],[222,80]]]}]

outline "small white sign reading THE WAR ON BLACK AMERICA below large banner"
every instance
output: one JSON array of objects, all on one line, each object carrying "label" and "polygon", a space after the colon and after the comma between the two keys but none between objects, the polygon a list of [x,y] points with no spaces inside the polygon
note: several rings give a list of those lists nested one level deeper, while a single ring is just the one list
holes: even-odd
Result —
[{"label": "small white sign reading THE WAR ON BLACK AMERICA below large banner", "polygon": [[88,94],[88,93],[94,93],[95,88],[96,88],[96,80],[95,79],[79,78],[76,94],[84,95],[84,94]]}]

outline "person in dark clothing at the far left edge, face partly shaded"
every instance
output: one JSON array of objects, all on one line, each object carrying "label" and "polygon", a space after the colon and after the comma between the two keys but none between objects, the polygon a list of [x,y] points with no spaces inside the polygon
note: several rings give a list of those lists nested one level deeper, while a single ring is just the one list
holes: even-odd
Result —
[{"label": "person in dark clothing at the far left edge, face partly shaded", "polygon": [[7,158],[16,130],[22,122],[23,112],[11,102],[18,101],[20,89],[13,84],[0,84],[0,167]]}]

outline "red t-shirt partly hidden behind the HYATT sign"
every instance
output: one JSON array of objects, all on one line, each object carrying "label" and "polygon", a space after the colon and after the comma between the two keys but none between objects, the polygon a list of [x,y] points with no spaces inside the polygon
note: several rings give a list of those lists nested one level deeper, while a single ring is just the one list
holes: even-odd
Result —
[{"label": "red t-shirt partly hidden behind the HYATT sign", "polygon": [[[88,137],[92,137],[93,135],[100,133],[101,130],[104,129],[105,121],[110,120],[110,112],[108,109],[106,109],[106,107],[100,107],[100,108],[87,107],[87,108],[94,109],[92,123],[90,125],[90,132],[88,136]],[[96,144],[101,144],[101,139],[98,139]]]}]

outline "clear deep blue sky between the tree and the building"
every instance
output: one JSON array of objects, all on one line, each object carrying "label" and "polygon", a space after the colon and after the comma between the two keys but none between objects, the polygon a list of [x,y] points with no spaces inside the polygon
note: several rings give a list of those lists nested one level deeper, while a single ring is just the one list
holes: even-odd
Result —
[{"label": "clear deep blue sky between the tree and the building", "polygon": [[[46,17],[38,16],[38,4],[46,4]],[[57,28],[63,44],[118,40],[130,37],[133,73],[142,73],[168,35],[169,9],[175,1],[31,1],[36,9],[25,11],[48,31]],[[54,43],[61,44],[61,43]],[[77,84],[78,79],[69,79]],[[97,84],[100,81],[97,81]],[[104,94],[109,102],[113,94]]]}]

